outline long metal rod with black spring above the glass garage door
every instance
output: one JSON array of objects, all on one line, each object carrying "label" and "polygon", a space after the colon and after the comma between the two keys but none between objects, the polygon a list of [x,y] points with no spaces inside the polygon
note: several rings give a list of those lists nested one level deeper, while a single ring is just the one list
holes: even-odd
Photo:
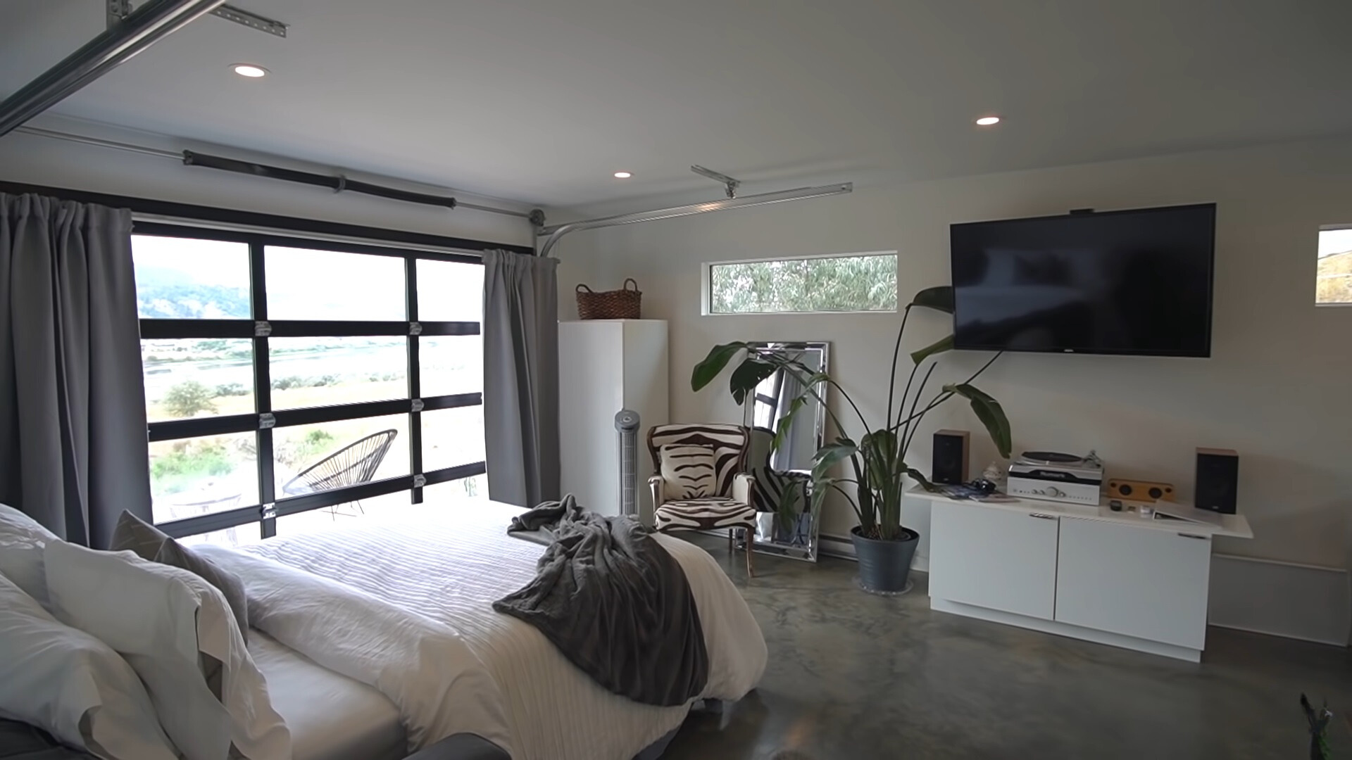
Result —
[{"label": "long metal rod with black spring above the glass garage door", "polygon": [[498,208],[493,206],[480,206],[477,203],[465,203],[456,199],[454,196],[431,195],[425,192],[412,192],[399,188],[391,188],[385,185],[377,185],[373,183],[364,183],[360,180],[350,180],[342,174],[318,174],[312,172],[301,172],[297,169],[285,169],[281,166],[269,166],[268,164],[257,164],[253,161],[241,161],[237,158],[224,158],[220,156],[211,156],[207,153],[197,153],[195,150],[164,150],[160,147],[146,147],[142,145],[132,145],[130,142],[120,142],[115,139],[103,139],[96,137],[77,135],[70,133],[61,133],[57,130],[46,130],[42,127],[19,127],[19,133],[30,134],[35,137],[45,137],[51,139],[64,139],[68,142],[78,142],[81,145],[93,145],[97,147],[110,147],[114,150],[126,150],[128,153],[141,153],[142,156],[154,156],[158,158],[173,158],[174,161],[181,161],[187,166],[206,166],[208,169],[220,169],[224,172],[235,172],[241,174],[251,174],[254,177],[266,177],[270,180],[284,180],[288,183],[300,183],[306,185],[315,185],[322,188],[329,188],[334,192],[360,192],[365,195],[373,195],[379,197],[387,197],[391,200],[403,200],[407,203],[420,203],[425,206],[439,206],[442,208],[470,208],[475,211],[487,211],[489,214],[502,214],[506,216],[518,216],[521,219],[527,219],[537,227],[545,223],[545,212],[539,208],[533,208],[531,211],[515,211],[512,208]]}]

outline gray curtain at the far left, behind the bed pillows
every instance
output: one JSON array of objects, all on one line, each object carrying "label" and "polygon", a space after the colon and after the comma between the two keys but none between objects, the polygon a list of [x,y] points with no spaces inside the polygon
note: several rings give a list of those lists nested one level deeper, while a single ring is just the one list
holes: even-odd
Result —
[{"label": "gray curtain at the far left, behind the bed pillows", "polygon": [[131,214],[0,193],[0,502],[104,548],[147,458]]}]

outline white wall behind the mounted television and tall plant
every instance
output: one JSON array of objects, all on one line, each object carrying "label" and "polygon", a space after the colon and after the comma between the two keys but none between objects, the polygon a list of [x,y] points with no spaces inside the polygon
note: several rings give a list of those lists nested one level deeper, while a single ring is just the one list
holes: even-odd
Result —
[{"label": "white wall behind the mounted television and tall plant", "polygon": [[[1211,358],[1015,354],[979,385],[1005,404],[1015,450],[1092,448],[1111,475],[1175,483],[1183,499],[1192,492],[1194,448],[1237,449],[1240,510],[1257,537],[1218,550],[1347,567],[1352,308],[1314,306],[1314,268],[1320,224],[1352,223],[1352,141],[868,188],[577,233],[558,247],[561,312],[576,318],[577,281],[618,287],[635,277],[644,316],[671,320],[675,422],[741,419],[726,384],[690,389],[694,364],[731,339],[830,341],[831,373],[880,418],[898,315],[700,316],[700,262],[896,249],[904,298],[948,281],[952,222],[1203,201],[1220,204]],[[911,348],[946,329],[929,312],[911,322]],[[983,358],[948,354],[932,385]],[[917,438],[911,464],[921,469],[929,469],[930,430],[980,430],[965,407],[941,411]],[[972,441],[979,472],[994,448],[984,434]],[[827,504],[825,531],[845,534],[850,525],[848,506]]]}]

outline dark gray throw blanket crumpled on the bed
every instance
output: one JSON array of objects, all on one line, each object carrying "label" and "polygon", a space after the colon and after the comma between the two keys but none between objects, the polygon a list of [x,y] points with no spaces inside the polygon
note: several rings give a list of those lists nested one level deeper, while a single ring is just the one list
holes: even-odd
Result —
[{"label": "dark gray throw blanket crumpled on the bed", "polygon": [[699,696],[708,652],[685,572],[629,517],[583,511],[569,495],[512,518],[508,531],[549,529],[535,579],[493,610],[545,634],[614,694],[673,706]]}]

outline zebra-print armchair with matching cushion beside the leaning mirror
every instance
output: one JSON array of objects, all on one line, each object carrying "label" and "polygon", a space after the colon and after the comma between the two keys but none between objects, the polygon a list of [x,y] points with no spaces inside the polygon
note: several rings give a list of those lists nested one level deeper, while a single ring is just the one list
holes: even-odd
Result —
[{"label": "zebra-print armchair with matching cushion beside the leaning mirror", "polygon": [[[688,462],[672,461],[688,456],[691,446],[708,449],[708,456],[694,456]],[[657,472],[648,479],[657,531],[727,529],[731,552],[733,534],[742,530],[746,573],[754,575],[756,507],[752,506],[752,476],[746,471],[749,450],[750,431],[741,425],[658,425],[648,431],[648,452],[657,465]],[[696,487],[702,492],[691,496],[695,483],[703,484]]]}]

